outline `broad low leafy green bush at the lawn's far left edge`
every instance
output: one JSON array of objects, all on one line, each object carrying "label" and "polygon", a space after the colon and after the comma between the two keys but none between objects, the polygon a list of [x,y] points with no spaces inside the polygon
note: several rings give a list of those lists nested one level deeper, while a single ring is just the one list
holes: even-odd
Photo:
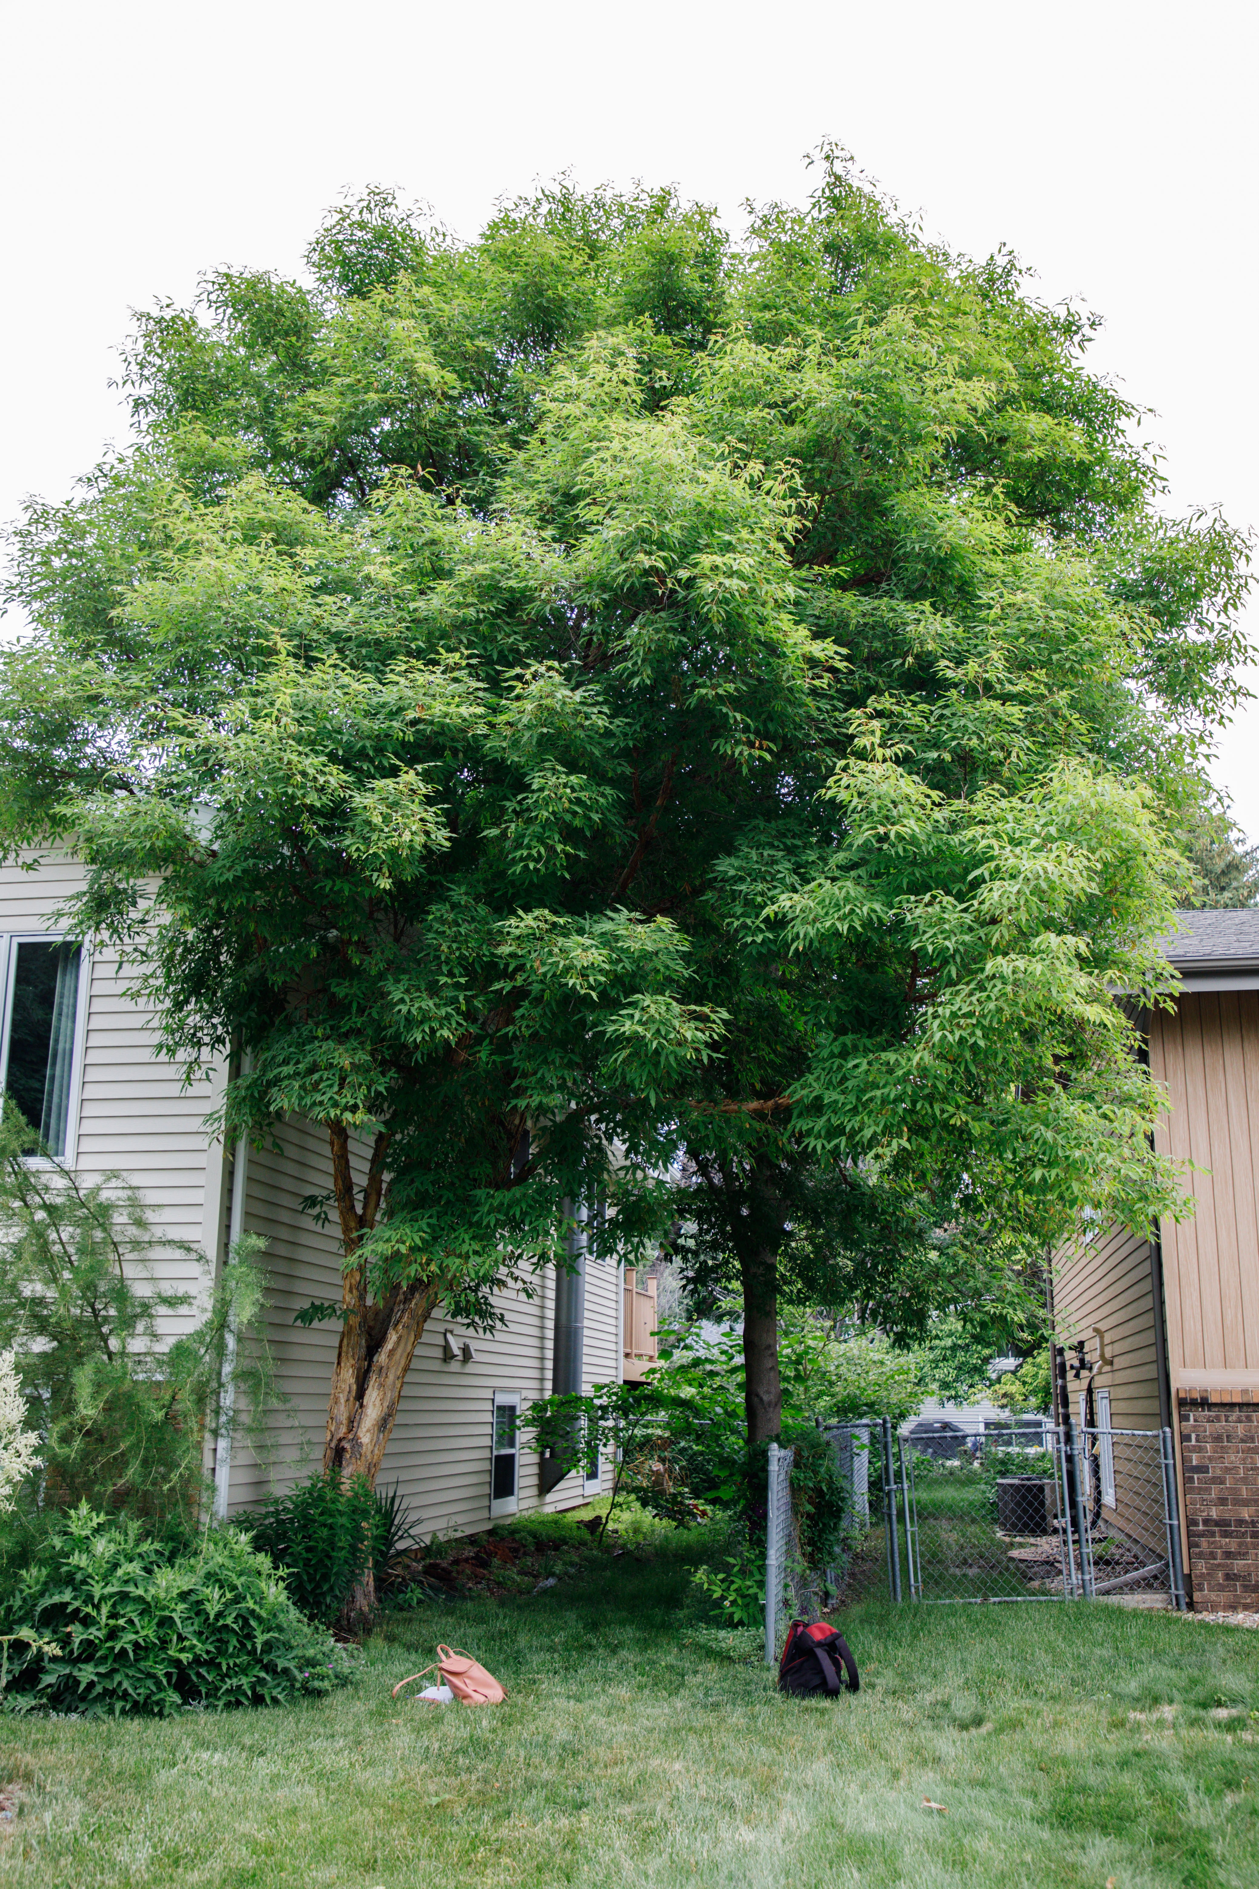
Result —
[{"label": "broad low leafy green bush at the lawn's far left edge", "polygon": [[11,1636],[9,1698],[57,1711],[281,1706],[353,1670],[236,1530],[172,1553],[134,1521],[87,1506],[53,1526],[0,1623]]}]

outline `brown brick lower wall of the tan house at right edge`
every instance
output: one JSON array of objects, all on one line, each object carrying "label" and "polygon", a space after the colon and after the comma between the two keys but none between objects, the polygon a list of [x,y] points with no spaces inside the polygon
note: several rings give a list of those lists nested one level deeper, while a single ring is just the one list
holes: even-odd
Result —
[{"label": "brown brick lower wall of the tan house at right edge", "polygon": [[1259,1402],[1182,1390],[1185,1558],[1199,1613],[1259,1608]]}]

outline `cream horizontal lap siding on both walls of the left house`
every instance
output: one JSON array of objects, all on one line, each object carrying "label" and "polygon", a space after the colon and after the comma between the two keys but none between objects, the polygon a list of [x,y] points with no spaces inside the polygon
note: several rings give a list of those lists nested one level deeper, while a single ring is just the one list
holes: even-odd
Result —
[{"label": "cream horizontal lap siding on both walls of the left house", "polygon": [[[0,929],[51,931],[60,899],[83,884],[74,861],[51,859],[38,873],[0,869]],[[204,1300],[217,1264],[230,1200],[217,1143],[204,1116],[217,1105],[217,1081],[183,1088],[181,1073],[160,1056],[151,1014],[130,1001],[117,960],[96,952],[89,971],[89,1013],[81,1075],[77,1167],[87,1181],[121,1171],[140,1188],[155,1230],[170,1241],[153,1258],[153,1275]],[[270,1311],[266,1334],[283,1402],[270,1413],[268,1447],[260,1458],[238,1432],[232,1458],[230,1506],[260,1500],[272,1487],[287,1489],[323,1458],[328,1383],[340,1326],[294,1326],[293,1315],[311,1300],[342,1294],[336,1220],[319,1228],[302,1213],[302,1200],[330,1184],[327,1132],[310,1122],[277,1130],[281,1152],[249,1150],[245,1228],[266,1239]],[[357,1150],[362,1173],[366,1150]],[[187,1243],[193,1252],[177,1251]],[[587,1273],[587,1387],[617,1377],[615,1266],[591,1262]],[[400,1483],[423,1530],[466,1532],[489,1521],[491,1413],[495,1390],[519,1390],[525,1402],[546,1396],[551,1379],[555,1279],[547,1269],[527,1300],[512,1290],[496,1296],[502,1326],[489,1337],[449,1324],[440,1313],[415,1351],[385,1455],[381,1481]],[[191,1305],[172,1320],[172,1332],[198,1315]],[[442,1358],[444,1334],[474,1360]],[[538,1485],[538,1458],[521,1451],[521,1506],[572,1507],[581,1502],[581,1479],[566,1477],[549,1496]]]}]

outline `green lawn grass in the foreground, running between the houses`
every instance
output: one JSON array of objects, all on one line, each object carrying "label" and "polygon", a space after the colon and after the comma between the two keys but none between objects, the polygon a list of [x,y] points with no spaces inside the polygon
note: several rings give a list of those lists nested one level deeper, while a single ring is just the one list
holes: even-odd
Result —
[{"label": "green lawn grass in the foreground, running between the houses", "polygon": [[[1259,1881],[1259,1634],[1110,1604],[866,1602],[844,1619],[861,1693],[798,1702],[751,1634],[702,1625],[698,1549],[557,1549],[557,1587],[394,1615],[355,1689],[294,1710],[0,1721],[17,1787],[0,1881]],[[508,1704],[394,1702],[436,1640],[474,1651]]]}]

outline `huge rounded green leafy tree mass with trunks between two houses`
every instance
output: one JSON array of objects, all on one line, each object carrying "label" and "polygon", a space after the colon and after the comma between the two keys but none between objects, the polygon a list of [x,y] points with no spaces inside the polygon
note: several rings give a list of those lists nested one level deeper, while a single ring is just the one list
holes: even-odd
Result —
[{"label": "huge rounded green leafy tree mass with trunks between two houses", "polygon": [[136,448],[17,533],[9,844],[247,1054],[228,1132],[328,1126],[328,1462],[572,1201],[740,1275],[753,1438],[783,1281],[908,1330],[1170,1203],[1108,992],[1163,982],[1246,546],[1159,512],[1093,317],[817,179],[738,244],[345,202],[140,321]]}]

